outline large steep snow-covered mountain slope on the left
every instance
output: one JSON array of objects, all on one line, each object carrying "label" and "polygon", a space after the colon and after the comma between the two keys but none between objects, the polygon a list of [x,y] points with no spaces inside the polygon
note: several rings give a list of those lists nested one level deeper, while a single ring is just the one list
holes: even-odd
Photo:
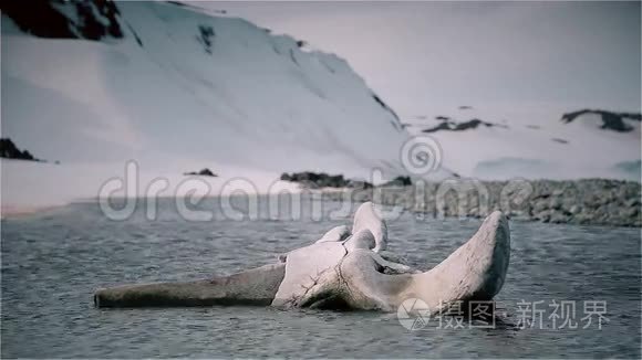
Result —
[{"label": "large steep snow-covered mountain slope on the left", "polygon": [[[60,160],[69,177],[2,161],[3,204],[38,202],[33,189],[48,177],[62,198],[95,195],[128,159],[149,176],[251,173],[260,188],[283,171],[405,172],[407,131],[333,54],[173,3],[55,2],[39,11],[56,21],[35,24],[3,7],[2,137]],[[81,173],[83,186],[73,181]]]}]

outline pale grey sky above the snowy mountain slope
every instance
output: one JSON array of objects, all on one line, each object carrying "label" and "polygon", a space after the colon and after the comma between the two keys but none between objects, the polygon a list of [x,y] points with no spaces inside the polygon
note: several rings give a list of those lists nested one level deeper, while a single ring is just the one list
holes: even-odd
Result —
[{"label": "pale grey sky above the snowy mountain slope", "polygon": [[402,116],[436,105],[641,108],[640,2],[196,6],[344,57]]}]

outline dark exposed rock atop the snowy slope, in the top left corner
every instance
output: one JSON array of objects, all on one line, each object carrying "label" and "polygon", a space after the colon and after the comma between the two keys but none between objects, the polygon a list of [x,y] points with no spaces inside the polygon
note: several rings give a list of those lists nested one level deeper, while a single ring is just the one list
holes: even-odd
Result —
[{"label": "dark exposed rock atop the snowy slope, in the top left corner", "polygon": [[[63,10],[71,13],[63,13]],[[87,39],[123,38],[118,9],[113,1],[2,1],[2,13],[20,30],[39,38]]]}]

